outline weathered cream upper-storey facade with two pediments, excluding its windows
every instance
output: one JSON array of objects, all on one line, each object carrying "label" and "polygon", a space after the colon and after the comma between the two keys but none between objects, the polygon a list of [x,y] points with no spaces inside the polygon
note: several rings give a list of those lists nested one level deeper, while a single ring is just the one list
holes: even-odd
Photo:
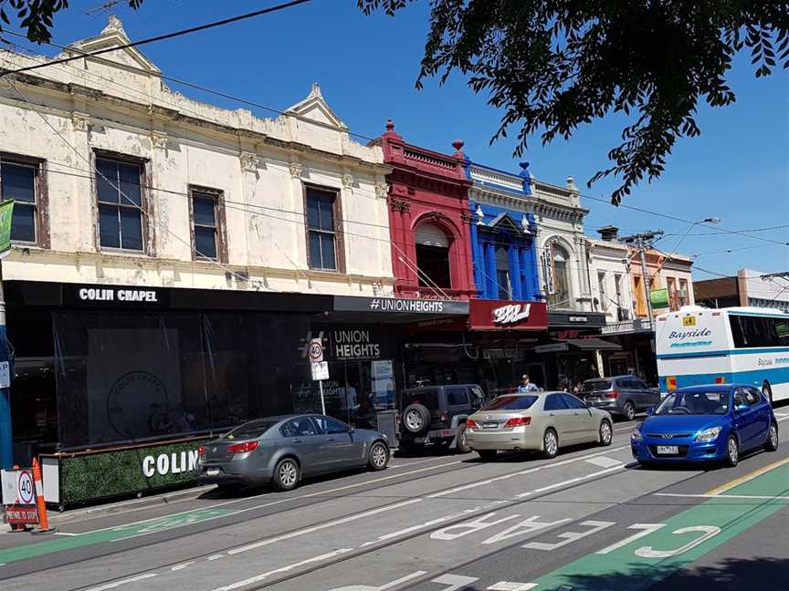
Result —
[{"label": "weathered cream upper-storey facade with two pediments, excluding its windows", "polygon": [[[120,21],[110,17],[100,36],[69,46],[64,55],[129,42]],[[0,51],[6,69],[46,61]],[[389,168],[380,147],[351,139],[317,85],[276,119],[261,119],[246,109],[188,99],[160,75],[132,47],[0,84],[0,153],[40,159],[49,225],[44,247],[13,247],[3,262],[5,280],[392,293]],[[143,252],[100,246],[97,152],[144,162]],[[337,258],[343,264],[337,271],[310,269],[308,185],[335,192],[341,203]],[[195,256],[192,186],[223,195],[225,261]]]}]

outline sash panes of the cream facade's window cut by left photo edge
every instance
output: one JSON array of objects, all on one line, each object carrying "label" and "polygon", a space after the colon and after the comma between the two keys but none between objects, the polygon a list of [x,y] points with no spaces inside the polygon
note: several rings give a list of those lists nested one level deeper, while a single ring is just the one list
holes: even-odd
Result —
[{"label": "sash panes of the cream facade's window cut by left photo edge", "polygon": [[11,218],[11,240],[37,244],[38,227],[38,174],[39,165],[0,158],[0,201],[14,202]]}]

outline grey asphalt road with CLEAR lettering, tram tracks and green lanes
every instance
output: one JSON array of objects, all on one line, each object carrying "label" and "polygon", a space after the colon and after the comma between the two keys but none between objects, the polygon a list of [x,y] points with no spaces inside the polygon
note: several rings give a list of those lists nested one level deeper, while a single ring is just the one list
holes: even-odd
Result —
[{"label": "grey asphalt road with CLEAR lettering, tram tracks and green lanes", "polygon": [[0,588],[63,591],[789,589],[789,406],[779,451],[642,470],[610,447],[482,463],[398,458],[291,493],[189,493],[0,534]]}]

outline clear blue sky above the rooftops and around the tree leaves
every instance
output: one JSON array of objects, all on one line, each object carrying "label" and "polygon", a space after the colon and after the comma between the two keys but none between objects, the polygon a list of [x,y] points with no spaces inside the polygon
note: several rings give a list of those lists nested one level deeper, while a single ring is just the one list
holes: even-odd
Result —
[{"label": "clear blue sky above the rooftops and around the tree leaves", "polygon": [[[270,2],[232,3],[209,0],[146,0],[134,12],[116,7],[132,39],[158,35],[187,26],[256,10]],[[54,40],[68,44],[98,34],[107,13],[88,16],[100,0],[76,0],[57,16]],[[510,140],[489,146],[498,129],[500,112],[475,95],[456,76],[444,87],[428,80],[416,90],[414,82],[422,57],[428,24],[426,0],[416,2],[395,18],[367,17],[355,0],[314,0],[277,14],[142,47],[165,74],[205,87],[284,109],[303,99],[310,84],[321,84],[324,98],[353,132],[377,136],[387,118],[410,143],[451,151],[451,141],[465,140],[468,156],[490,166],[517,171]],[[51,54],[51,48],[42,48]],[[701,137],[681,140],[668,160],[668,170],[652,185],[639,187],[626,203],[676,215],[687,220],[721,218],[732,230],[789,224],[789,76],[783,71],[767,79],[753,77],[743,54],[731,71],[730,86],[737,93],[733,107],[700,109]],[[214,104],[241,105],[184,94]],[[270,116],[258,112],[261,116]],[[604,196],[615,181],[601,181],[592,189],[585,181],[608,164],[605,154],[616,145],[623,119],[595,121],[572,140],[543,148],[532,139],[526,160],[542,181],[563,184],[572,175],[585,194]],[[514,133],[512,135],[515,135]],[[586,233],[614,223],[625,233],[661,228],[681,234],[687,224],[660,219],[586,199],[591,210]],[[700,254],[704,269],[734,274],[742,267],[765,272],[789,270],[789,247],[759,242],[748,235],[696,235],[710,230],[696,227],[679,247],[684,254]],[[712,231],[714,232],[714,231]],[[789,228],[757,235],[789,241]],[[659,244],[674,250],[678,237]],[[726,249],[731,253],[721,253]],[[699,279],[710,278],[696,271]]]}]

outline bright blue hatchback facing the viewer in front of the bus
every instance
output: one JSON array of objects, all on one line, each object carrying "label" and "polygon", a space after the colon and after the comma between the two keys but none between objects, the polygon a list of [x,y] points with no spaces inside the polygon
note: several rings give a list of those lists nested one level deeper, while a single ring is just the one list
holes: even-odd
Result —
[{"label": "bright blue hatchback facing the viewer in front of the bus", "polygon": [[641,464],[724,461],[763,447],[778,449],[778,423],[758,389],[713,384],[675,390],[630,435]]}]

